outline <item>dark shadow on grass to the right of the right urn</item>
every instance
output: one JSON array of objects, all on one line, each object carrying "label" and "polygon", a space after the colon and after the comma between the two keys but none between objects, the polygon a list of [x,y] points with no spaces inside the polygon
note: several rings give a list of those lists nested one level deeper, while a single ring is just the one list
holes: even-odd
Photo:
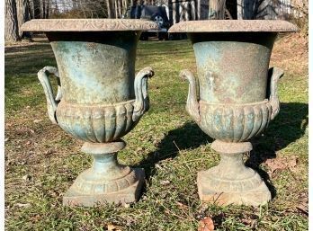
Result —
[{"label": "dark shadow on grass to the right of the right urn", "polygon": [[267,159],[276,157],[276,152],[289,146],[305,134],[309,124],[309,104],[300,102],[281,103],[278,116],[264,130],[264,136],[253,138],[251,143],[254,149],[246,161],[249,166],[261,175],[271,191],[272,199],[276,196],[276,189],[271,179],[260,164]]}]

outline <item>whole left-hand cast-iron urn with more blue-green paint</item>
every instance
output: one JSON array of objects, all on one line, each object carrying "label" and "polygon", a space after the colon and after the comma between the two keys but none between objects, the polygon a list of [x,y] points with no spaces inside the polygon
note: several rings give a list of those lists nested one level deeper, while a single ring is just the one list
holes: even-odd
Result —
[{"label": "whole left-hand cast-iron urn with more blue-green paint", "polygon": [[[119,164],[121,139],[148,111],[150,67],[135,76],[141,31],[155,22],[109,19],[31,20],[22,31],[47,35],[57,67],[43,67],[38,77],[47,98],[49,120],[74,138],[85,141],[82,151],[94,157],[63,197],[67,206],[130,203],[139,199],[145,173]],[[54,95],[50,74],[58,80]]]}]

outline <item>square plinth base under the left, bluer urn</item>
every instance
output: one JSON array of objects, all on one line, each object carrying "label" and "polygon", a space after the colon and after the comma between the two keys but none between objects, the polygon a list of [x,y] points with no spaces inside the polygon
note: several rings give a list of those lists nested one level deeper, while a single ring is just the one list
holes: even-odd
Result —
[{"label": "square plinth base under the left, bluer urn", "polygon": [[139,200],[140,191],[145,181],[145,171],[141,168],[136,171],[138,181],[122,191],[114,191],[107,194],[84,195],[69,188],[63,197],[64,206],[84,206],[93,207],[103,203],[128,204]]}]

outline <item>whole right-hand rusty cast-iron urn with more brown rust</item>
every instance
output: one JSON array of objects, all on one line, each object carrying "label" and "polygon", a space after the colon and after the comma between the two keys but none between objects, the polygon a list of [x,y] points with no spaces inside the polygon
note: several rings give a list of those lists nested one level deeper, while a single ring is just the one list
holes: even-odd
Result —
[{"label": "whole right-hand rusty cast-iron urn with more brown rust", "polygon": [[290,22],[210,20],[179,22],[170,32],[187,32],[196,58],[197,76],[189,81],[186,110],[199,127],[216,139],[211,148],[220,162],[198,173],[198,194],[220,205],[259,206],[271,193],[243,155],[250,138],[262,134],[280,110],[277,84],[282,69],[269,69],[278,32],[298,31]]}]

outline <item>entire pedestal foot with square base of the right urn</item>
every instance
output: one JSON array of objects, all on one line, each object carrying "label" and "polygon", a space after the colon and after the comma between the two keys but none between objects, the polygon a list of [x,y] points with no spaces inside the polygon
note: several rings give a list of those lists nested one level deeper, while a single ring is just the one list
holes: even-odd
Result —
[{"label": "entire pedestal foot with square base of the right urn", "polygon": [[219,152],[219,165],[198,173],[198,194],[202,201],[219,205],[264,205],[271,192],[255,170],[246,167],[242,155],[252,150],[251,143],[216,140],[212,149]]}]

